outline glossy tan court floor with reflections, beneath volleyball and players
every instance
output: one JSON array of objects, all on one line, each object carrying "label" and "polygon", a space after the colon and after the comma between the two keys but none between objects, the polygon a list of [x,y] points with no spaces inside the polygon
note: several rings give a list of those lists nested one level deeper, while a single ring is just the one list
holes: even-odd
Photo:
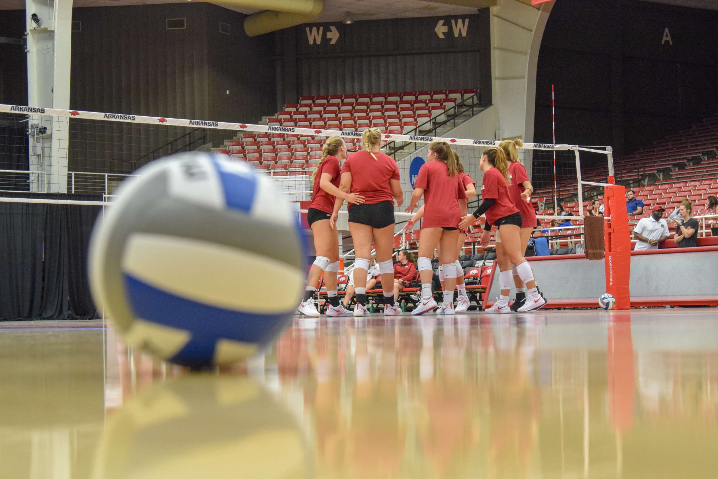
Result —
[{"label": "glossy tan court floor with reflections, beneath volleyball and players", "polygon": [[297,319],[202,374],[3,323],[0,477],[713,478],[717,315],[678,313]]}]

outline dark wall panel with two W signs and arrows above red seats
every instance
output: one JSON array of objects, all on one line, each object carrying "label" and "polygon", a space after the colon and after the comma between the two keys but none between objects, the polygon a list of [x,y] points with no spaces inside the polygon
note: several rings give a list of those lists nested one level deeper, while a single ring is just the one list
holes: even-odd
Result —
[{"label": "dark wall panel with two W signs and arrows above red seats", "polygon": [[[434,30],[439,21],[447,27],[443,39]],[[339,34],[333,45],[327,38],[331,27]],[[277,78],[284,79],[277,90],[279,107],[304,95],[402,90],[479,88],[490,98],[488,9],[465,16],[299,25],[276,33],[275,54]]]}]

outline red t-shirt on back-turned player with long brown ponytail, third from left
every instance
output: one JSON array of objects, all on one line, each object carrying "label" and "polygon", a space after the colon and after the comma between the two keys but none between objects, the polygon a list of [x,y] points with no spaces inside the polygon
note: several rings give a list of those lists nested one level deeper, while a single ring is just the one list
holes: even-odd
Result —
[{"label": "red t-shirt on back-turned player with long brown ponytail, third from left", "polygon": [[461,223],[459,200],[466,199],[461,175],[449,176],[447,164],[441,161],[421,165],[414,182],[415,188],[424,188],[424,228],[457,228]]}]

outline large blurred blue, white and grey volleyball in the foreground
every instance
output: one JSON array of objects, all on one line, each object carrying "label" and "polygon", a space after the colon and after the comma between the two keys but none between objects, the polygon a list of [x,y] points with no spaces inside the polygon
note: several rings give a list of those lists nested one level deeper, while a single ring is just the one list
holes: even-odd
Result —
[{"label": "large blurred blue, white and grey volleyball in the foreground", "polygon": [[177,154],[123,182],[90,240],[98,306],[129,345],[202,368],[271,342],[302,299],[289,200],[244,162]]}]

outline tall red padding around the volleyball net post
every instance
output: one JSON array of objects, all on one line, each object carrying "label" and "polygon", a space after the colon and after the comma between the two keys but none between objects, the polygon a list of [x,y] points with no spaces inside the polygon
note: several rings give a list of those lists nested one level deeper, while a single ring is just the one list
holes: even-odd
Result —
[{"label": "tall red padding around the volleyball net post", "polygon": [[616,299],[616,310],[630,309],[630,231],[625,203],[625,187],[604,187],[606,215],[605,267],[606,292]]}]

